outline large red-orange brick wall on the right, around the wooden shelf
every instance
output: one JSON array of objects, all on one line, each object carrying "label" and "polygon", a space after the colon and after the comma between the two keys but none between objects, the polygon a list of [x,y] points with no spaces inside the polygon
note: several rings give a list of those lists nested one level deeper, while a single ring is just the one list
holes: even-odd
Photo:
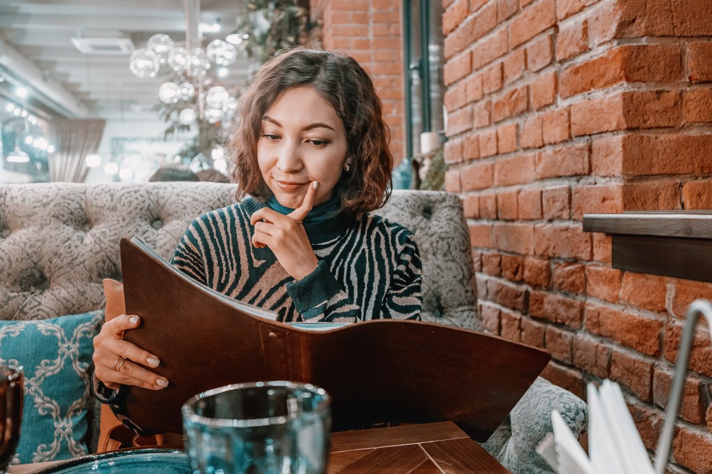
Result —
[{"label": "large red-orange brick wall on the right, around the wooden shelf", "polygon": [[[708,0],[444,0],[446,189],[461,194],[491,332],[553,354],[584,396],[622,385],[661,428],[686,305],[712,285],[611,268],[585,213],[712,208]],[[656,258],[656,256],[651,256]],[[712,349],[698,330],[674,472],[712,473]]]}]

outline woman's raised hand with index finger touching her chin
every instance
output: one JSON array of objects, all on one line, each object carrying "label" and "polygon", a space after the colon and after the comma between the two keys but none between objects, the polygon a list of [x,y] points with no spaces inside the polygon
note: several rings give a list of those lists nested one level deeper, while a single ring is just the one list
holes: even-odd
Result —
[{"label": "woman's raised hand with index finger touching her chin", "polygon": [[286,216],[263,207],[250,218],[250,222],[255,226],[252,245],[258,248],[268,246],[295,280],[301,280],[312,273],[319,263],[302,226],[302,221],[314,206],[318,186],[319,182],[313,181],[302,204]]}]

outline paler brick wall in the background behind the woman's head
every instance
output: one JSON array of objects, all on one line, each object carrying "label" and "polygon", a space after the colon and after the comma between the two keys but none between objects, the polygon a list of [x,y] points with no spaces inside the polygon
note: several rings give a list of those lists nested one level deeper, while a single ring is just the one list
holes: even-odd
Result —
[{"label": "paler brick wall in the background behind the woman's head", "polygon": [[323,21],[323,47],[353,56],[371,73],[399,162],[405,150],[400,1],[312,0],[310,9]]}]

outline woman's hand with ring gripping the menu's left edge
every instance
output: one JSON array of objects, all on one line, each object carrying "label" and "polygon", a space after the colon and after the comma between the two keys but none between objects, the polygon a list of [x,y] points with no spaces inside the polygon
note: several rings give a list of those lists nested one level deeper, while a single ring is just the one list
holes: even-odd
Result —
[{"label": "woman's hand with ring gripping the menu's left edge", "polygon": [[160,390],[168,386],[166,379],[139,365],[158,367],[158,357],[123,340],[124,331],[138,327],[139,322],[140,318],[135,315],[117,316],[106,322],[94,338],[95,374],[108,389],[135,385]]}]

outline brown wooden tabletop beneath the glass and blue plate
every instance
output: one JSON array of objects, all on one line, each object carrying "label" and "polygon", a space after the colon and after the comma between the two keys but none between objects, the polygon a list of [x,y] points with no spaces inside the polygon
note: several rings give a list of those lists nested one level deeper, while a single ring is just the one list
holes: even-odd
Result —
[{"label": "brown wooden tabletop beneath the glass and blue plate", "polygon": [[[16,465],[31,474],[61,461]],[[509,473],[455,423],[374,428],[333,433],[328,474]]]}]

